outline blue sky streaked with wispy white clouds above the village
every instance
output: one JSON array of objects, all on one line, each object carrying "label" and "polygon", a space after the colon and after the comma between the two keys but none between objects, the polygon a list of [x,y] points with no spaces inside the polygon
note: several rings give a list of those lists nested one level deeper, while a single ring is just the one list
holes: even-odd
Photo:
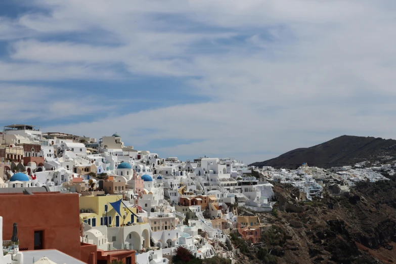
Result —
[{"label": "blue sky streaked with wispy white clouds above the village", "polygon": [[0,125],[161,157],[395,138],[394,0],[2,0]]}]

